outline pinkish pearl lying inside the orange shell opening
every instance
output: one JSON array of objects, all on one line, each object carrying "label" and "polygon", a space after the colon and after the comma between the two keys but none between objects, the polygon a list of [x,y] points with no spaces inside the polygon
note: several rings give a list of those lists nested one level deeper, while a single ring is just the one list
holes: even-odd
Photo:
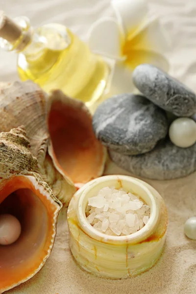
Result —
[{"label": "pinkish pearl lying inside the orange shell opening", "polygon": [[0,245],[14,243],[21,234],[21,224],[10,214],[0,215]]}]

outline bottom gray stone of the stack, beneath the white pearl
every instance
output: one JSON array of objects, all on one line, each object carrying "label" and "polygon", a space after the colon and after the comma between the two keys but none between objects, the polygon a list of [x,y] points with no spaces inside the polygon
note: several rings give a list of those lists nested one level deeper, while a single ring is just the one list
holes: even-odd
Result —
[{"label": "bottom gray stone of the stack, beneath the white pearl", "polygon": [[109,154],[119,167],[149,179],[175,179],[196,171],[196,144],[180,148],[168,139],[142,155],[128,156],[115,151]]}]

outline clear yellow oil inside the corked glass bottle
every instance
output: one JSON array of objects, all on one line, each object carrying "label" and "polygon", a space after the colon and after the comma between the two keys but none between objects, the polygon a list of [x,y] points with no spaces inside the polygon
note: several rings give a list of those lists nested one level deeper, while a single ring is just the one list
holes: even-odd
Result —
[{"label": "clear yellow oil inside the corked glass bottle", "polygon": [[91,105],[104,92],[109,67],[72,32],[66,29],[66,33],[70,44],[64,49],[47,46],[39,53],[19,53],[19,76],[22,81],[33,80],[46,92],[61,89],[66,95]]}]

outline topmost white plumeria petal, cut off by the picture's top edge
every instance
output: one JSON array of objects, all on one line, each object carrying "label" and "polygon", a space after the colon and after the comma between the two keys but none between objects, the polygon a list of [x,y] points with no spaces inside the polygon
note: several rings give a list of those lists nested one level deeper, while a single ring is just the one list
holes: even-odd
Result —
[{"label": "topmost white plumeria petal, cut off by the picture's top edge", "polygon": [[111,4],[125,34],[137,29],[147,16],[146,0],[112,0]]}]

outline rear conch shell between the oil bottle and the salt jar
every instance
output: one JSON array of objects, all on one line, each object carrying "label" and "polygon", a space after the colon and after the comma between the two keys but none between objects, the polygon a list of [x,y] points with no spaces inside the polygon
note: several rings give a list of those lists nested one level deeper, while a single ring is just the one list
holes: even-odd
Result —
[{"label": "rear conch shell between the oil bottle and the salt jar", "polygon": [[2,84],[0,131],[20,125],[25,126],[30,151],[37,158],[35,172],[63,203],[68,205],[78,182],[102,174],[106,151],[81,101],[61,91],[48,96],[32,81]]}]

